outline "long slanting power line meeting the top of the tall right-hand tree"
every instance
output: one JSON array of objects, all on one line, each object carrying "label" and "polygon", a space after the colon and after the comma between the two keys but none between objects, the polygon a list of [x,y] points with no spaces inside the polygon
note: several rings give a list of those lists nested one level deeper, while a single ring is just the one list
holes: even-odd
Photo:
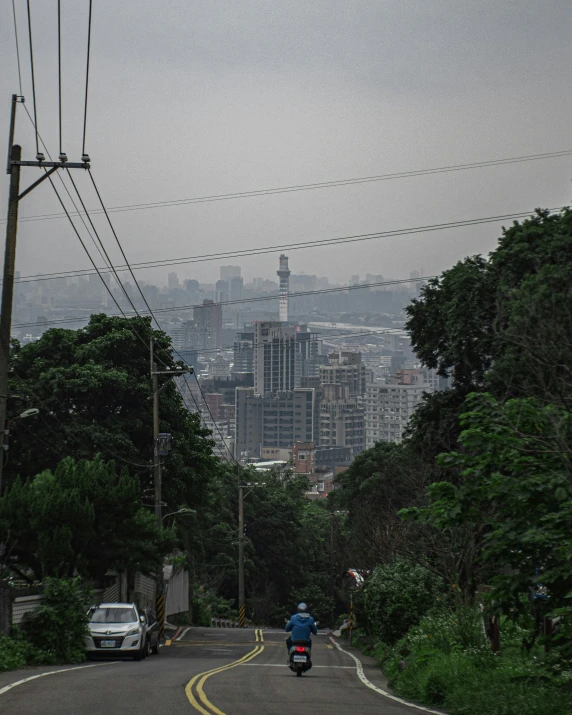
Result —
[{"label": "long slanting power line meeting the top of the tall right-hand tree", "polygon": [[[565,209],[564,206],[558,206],[556,208],[547,209],[548,211],[561,211]],[[371,241],[377,238],[392,238],[397,236],[410,236],[416,233],[427,233],[433,231],[444,231],[453,228],[464,228],[469,226],[478,226],[487,223],[496,223],[498,221],[508,221],[523,216],[530,216],[533,214],[533,210],[520,211],[511,214],[502,214],[499,216],[487,216],[484,218],[476,219],[463,219],[460,221],[449,221],[445,223],[438,224],[427,224],[424,226],[416,226],[413,228],[403,228],[403,229],[391,229],[387,231],[376,231],[374,233],[362,233],[355,234],[352,236],[340,236],[337,238],[324,238],[315,239],[311,241],[298,241],[296,243],[283,243],[273,246],[263,246],[261,248],[251,248],[251,249],[240,249],[236,251],[224,251],[221,253],[205,253],[197,256],[188,256],[183,258],[165,258],[158,261],[143,261],[140,263],[133,263],[131,265],[132,270],[144,270],[148,268],[161,268],[169,266],[177,266],[189,263],[204,263],[210,261],[218,260],[229,260],[236,258],[247,258],[249,256],[258,256],[267,253],[278,253],[280,251],[297,251],[307,248],[325,248],[335,246],[337,244],[344,243],[355,243],[360,241]],[[125,271],[128,270],[127,266],[116,266],[115,270]],[[104,271],[105,272],[105,271]],[[17,279],[18,283],[32,283],[39,280],[53,280],[55,278],[75,278],[75,277],[85,277],[92,275],[93,271],[90,269],[76,269],[72,271],[58,271],[54,273],[36,273],[29,276],[22,276]]]}]

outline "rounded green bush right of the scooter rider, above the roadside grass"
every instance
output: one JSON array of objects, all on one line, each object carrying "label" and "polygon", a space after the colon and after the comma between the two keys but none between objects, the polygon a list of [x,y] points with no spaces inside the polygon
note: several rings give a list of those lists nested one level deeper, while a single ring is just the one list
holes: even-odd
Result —
[{"label": "rounded green bush right of the scooter rider, above the roadside grass", "polygon": [[389,645],[396,643],[430,609],[445,601],[445,593],[440,578],[405,559],[378,566],[363,596],[372,635]]}]

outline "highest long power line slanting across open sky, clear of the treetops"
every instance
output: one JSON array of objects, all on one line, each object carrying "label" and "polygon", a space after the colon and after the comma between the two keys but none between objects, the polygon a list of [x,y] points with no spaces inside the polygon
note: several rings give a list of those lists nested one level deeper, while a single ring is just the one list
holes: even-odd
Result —
[{"label": "highest long power line slanting across open sky, clear of the treetops", "polygon": [[[228,201],[234,199],[251,198],[255,196],[272,196],[274,194],[293,193],[298,191],[311,191],[315,189],[328,189],[337,186],[351,186],[354,184],[366,184],[379,181],[391,181],[396,179],[405,179],[416,176],[429,176],[433,174],[444,174],[455,171],[467,171],[471,169],[481,169],[494,166],[503,166],[505,164],[521,164],[530,161],[540,161],[544,159],[557,159],[572,155],[572,149],[562,149],[554,152],[542,152],[540,154],[529,154],[517,157],[508,157],[505,159],[491,159],[489,161],[476,161],[467,164],[452,164],[450,166],[439,166],[431,169],[414,169],[411,171],[401,171],[392,174],[379,174],[376,176],[363,176],[351,179],[338,179],[335,181],[323,181],[312,184],[294,184],[291,186],[281,186],[270,189],[253,189],[252,191],[237,191],[227,194],[212,194],[207,196],[197,196],[187,199],[171,199],[166,201],[155,201],[141,204],[125,204],[121,206],[112,206],[108,210],[109,213],[124,212],[124,211],[140,211],[154,208],[169,208],[171,206],[186,206],[189,204],[208,203],[212,201]],[[96,211],[97,213],[97,211]],[[54,214],[38,214],[34,216],[23,216],[20,221],[44,221],[51,219],[64,218],[63,213]]]}]

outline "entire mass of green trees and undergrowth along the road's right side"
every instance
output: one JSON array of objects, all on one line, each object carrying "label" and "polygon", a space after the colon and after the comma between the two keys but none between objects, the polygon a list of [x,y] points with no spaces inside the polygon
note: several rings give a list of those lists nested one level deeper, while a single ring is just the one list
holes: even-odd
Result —
[{"label": "entire mass of green trees and undergrowth along the road's right side", "polygon": [[[401,444],[361,454],[332,500],[347,512],[346,557],[373,573],[358,623],[393,686],[455,714],[572,709],[571,278],[565,210],[515,223],[488,258],[431,280],[407,327],[453,386],[425,396]],[[415,612],[404,587],[399,633],[380,575],[395,563],[413,590],[425,568],[446,594]]]}]

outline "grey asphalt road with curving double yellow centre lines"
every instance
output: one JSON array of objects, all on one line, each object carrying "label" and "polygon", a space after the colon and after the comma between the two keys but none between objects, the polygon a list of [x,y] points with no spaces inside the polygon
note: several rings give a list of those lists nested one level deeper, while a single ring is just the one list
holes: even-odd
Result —
[{"label": "grey asphalt road with curving double yellow centre lines", "polygon": [[[358,654],[363,663],[360,679],[351,655],[338,650],[326,635],[314,638],[314,667],[302,678],[297,678],[286,666],[284,633],[193,628],[181,635],[179,640],[162,647],[158,656],[140,663],[102,661],[73,670],[71,666],[62,666],[0,673],[0,713],[418,715],[421,712],[372,689],[383,687],[373,661]],[[21,682],[26,678],[27,682]]]}]

